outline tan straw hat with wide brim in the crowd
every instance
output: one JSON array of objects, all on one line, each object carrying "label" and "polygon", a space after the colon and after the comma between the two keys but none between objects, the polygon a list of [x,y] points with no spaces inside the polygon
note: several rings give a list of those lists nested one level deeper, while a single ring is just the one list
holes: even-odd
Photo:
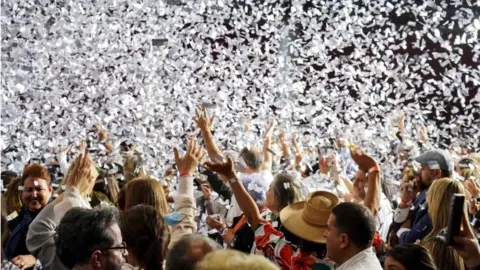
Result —
[{"label": "tan straw hat with wide brim in the crowd", "polygon": [[324,244],[323,234],[332,208],[339,203],[335,194],[315,191],[303,202],[291,204],[280,212],[282,225],[294,235],[310,242]]}]

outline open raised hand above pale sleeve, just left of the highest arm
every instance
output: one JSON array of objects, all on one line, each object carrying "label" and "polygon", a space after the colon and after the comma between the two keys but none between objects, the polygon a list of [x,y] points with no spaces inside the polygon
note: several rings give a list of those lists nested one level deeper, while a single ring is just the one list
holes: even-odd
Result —
[{"label": "open raised hand above pale sleeve, just left of the highest arm", "polygon": [[178,149],[174,149],[175,163],[180,175],[192,176],[197,169],[198,164],[205,158],[206,153],[203,148],[197,145],[197,140],[190,138],[188,140],[187,153],[181,156]]}]

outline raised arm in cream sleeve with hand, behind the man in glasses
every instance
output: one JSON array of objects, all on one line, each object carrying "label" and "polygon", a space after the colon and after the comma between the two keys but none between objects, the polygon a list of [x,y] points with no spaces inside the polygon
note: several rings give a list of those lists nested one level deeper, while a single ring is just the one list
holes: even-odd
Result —
[{"label": "raised arm in cream sleeve with hand, behind the man in glasses", "polygon": [[42,262],[44,270],[66,269],[55,254],[54,238],[55,228],[65,213],[73,207],[91,208],[86,197],[93,190],[98,172],[85,143],[81,153],[69,168],[65,192],[38,214],[28,230],[27,248]]}]

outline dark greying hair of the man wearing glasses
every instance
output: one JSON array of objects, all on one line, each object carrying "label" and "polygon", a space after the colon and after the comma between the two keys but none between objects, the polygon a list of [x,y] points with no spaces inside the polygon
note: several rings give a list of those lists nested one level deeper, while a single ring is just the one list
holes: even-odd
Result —
[{"label": "dark greying hair of the man wearing glasses", "polygon": [[56,229],[57,257],[68,269],[88,263],[94,251],[113,246],[115,239],[105,228],[118,220],[118,210],[113,207],[70,209]]}]

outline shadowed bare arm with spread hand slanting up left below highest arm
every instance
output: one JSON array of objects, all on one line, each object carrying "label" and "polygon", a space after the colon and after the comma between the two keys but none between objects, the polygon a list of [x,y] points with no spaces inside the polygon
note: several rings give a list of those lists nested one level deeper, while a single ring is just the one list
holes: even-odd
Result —
[{"label": "shadowed bare arm with spread hand slanting up left below highest arm", "polygon": [[252,197],[250,197],[238,179],[233,168],[232,158],[228,157],[227,162],[223,163],[207,162],[204,164],[204,166],[207,169],[215,171],[229,179],[228,181],[230,182],[230,187],[232,188],[233,194],[235,195],[235,199],[237,200],[240,209],[242,209],[243,214],[247,217],[252,228],[257,228],[258,224],[260,224],[262,220],[260,211],[258,210],[258,207],[253,201]]}]

